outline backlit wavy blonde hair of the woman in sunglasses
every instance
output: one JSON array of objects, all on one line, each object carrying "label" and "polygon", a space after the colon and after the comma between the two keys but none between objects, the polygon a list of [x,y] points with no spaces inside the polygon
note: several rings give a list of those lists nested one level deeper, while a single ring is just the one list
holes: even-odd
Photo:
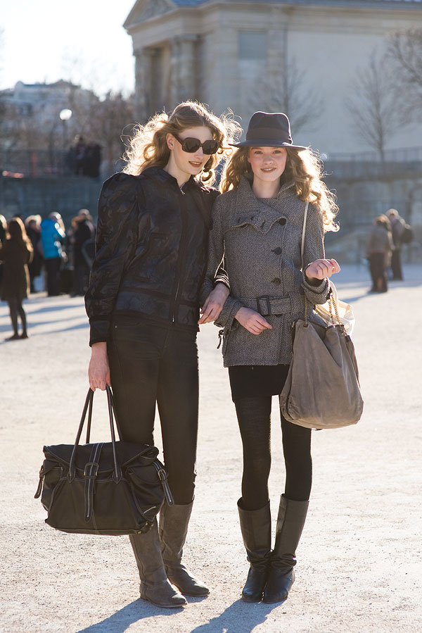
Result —
[{"label": "backlit wavy blonde hair of the woman in sunglasses", "polygon": [[185,101],[170,115],[158,113],[146,125],[137,125],[123,156],[127,163],[124,173],[139,175],[148,167],[164,168],[170,159],[167,134],[180,134],[189,127],[202,125],[210,129],[212,137],[219,142],[219,149],[210,155],[198,179],[204,184],[213,184],[217,166],[225,163],[233,152],[229,143],[234,142],[242,130],[233,115],[217,117],[196,101]]}]

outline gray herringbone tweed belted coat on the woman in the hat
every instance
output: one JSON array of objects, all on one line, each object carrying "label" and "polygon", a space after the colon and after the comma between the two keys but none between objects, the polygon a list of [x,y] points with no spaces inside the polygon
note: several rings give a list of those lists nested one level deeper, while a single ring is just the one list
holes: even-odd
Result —
[{"label": "gray herringbone tweed belted coat on the woman in the hat", "polygon": [[[208,265],[201,293],[202,303],[214,286],[222,258],[229,276],[230,295],[215,325],[222,327],[224,366],[278,365],[291,360],[291,324],[303,317],[305,292],[308,315],[323,323],[313,310],[325,303],[328,280],[312,286],[301,271],[305,202],[295,194],[293,183],[284,184],[276,198],[259,199],[250,180],[243,176],[239,187],[222,194],[212,210]],[[321,215],[309,204],[304,269],[324,258]],[[259,311],[272,330],[250,334],[234,318],[245,306]]]}]

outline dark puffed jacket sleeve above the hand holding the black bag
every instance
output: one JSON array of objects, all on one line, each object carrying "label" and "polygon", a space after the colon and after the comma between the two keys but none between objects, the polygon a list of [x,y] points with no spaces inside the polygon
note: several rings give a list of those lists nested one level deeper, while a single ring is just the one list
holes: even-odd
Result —
[{"label": "dark puffed jacket sleeve above the hand holding the black bag", "polygon": [[108,340],[122,274],[136,247],[138,188],[134,176],[118,173],[101,189],[96,256],[85,296],[90,345]]}]

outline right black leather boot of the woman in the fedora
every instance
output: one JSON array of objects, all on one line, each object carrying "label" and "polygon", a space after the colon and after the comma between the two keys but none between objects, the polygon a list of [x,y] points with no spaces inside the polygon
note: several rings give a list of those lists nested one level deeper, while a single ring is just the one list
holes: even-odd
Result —
[{"label": "right black leather boot of the woman in the fedora", "polygon": [[272,604],[286,600],[295,581],[293,570],[305,525],[309,501],[292,501],[281,495],[276,527],[276,544],[271,554],[264,602]]}]

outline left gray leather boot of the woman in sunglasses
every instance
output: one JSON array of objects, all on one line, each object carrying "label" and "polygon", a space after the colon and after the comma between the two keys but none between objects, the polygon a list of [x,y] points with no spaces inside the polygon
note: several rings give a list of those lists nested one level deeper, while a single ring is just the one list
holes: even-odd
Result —
[{"label": "left gray leather boot of the woman in sunglasses", "polygon": [[155,519],[149,532],[130,534],[129,539],[141,578],[139,585],[141,598],[158,607],[169,609],[184,607],[187,604],[186,599],[172,586],[165,573],[157,520]]}]

